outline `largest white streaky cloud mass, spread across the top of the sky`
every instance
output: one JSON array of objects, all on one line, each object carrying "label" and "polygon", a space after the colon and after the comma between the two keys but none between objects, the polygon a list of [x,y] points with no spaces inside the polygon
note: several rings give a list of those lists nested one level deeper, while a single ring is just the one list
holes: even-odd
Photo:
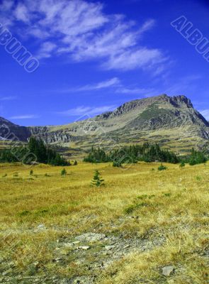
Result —
[{"label": "largest white streaky cloud mass, spread across the top of the sky", "polygon": [[160,70],[167,60],[161,50],[140,42],[153,19],[137,27],[123,15],[104,13],[95,1],[13,0],[12,5],[6,16],[23,23],[21,33],[38,39],[39,58],[63,54],[77,62],[97,60],[107,70]]}]

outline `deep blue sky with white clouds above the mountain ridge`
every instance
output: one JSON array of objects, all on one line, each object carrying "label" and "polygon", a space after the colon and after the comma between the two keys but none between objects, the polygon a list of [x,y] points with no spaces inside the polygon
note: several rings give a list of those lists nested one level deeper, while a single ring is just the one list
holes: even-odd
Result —
[{"label": "deep blue sky with white clouds above the mountain ridge", "polygon": [[185,94],[209,119],[209,62],[171,26],[184,16],[209,40],[208,1],[0,3],[3,28],[40,63],[26,72],[0,45],[0,116],[67,124],[166,93]]}]

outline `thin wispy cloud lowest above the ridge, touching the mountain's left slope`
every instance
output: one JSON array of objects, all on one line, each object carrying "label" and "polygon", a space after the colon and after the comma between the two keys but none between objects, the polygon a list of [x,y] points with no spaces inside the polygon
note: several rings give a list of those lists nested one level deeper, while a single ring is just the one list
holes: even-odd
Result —
[{"label": "thin wispy cloud lowest above the ridge, touching the mountain's left slope", "polygon": [[97,114],[102,114],[106,111],[113,111],[115,109],[114,105],[111,106],[103,106],[103,107],[77,107],[74,109],[68,109],[66,111],[58,111],[56,114],[60,114],[62,116],[94,116]]}]

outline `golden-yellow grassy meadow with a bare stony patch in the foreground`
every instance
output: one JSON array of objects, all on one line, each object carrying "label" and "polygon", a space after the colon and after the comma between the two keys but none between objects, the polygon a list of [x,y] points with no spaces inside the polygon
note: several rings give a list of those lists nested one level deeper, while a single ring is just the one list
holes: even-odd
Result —
[{"label": "golden-yellow grassy meadow with a bare stony patch in the foreground", "polygon": [[209,163],[166,166],[1,164],[0,283],[209,283]]}]

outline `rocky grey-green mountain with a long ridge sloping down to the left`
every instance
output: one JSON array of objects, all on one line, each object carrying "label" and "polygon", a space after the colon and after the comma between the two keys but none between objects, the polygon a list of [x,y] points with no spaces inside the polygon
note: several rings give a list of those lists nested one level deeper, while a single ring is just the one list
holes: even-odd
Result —
[{"label": "rocky grey-green mountain with a long ridge sloping down to the left", "polygon": [[26,128],[6,123],[23,141],[33,135],[46,143],[82,149],[144,141],[186,147],[191,141],[209,139],[208,121],[193,108],[190,99],[166,94],[127,102],[115,111],[64,126]]}]

